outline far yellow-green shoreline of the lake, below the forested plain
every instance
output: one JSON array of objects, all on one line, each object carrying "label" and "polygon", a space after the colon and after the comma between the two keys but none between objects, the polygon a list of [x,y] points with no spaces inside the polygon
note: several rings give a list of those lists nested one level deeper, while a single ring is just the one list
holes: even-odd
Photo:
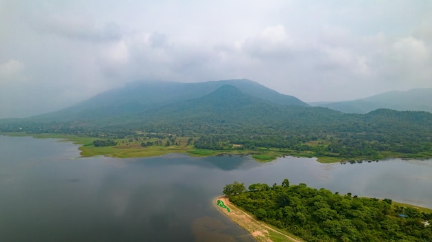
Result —
[{"label": "far yellow-green shoreline of the lake, below the forested plain", "polygon": [[[432,159],[430,155],[424,154],[403,154],[403,153],[384,153],[382,157],[333,157],[333,156],[321,156],[313,153],[296,153],[294,151],[255,151],[255,150],[206,150],[196,149],[193,146],[181,144],[179,146],[150,146],[142,147],[139,142],[130,142],[128,144],[121,144],[121,146],[92,146],[93,140],[97,140],[96,137],[88,136],[77,136],[77,135],[65,135],[59,133],[40,133],[30,134],[25,132],[8,133],[0,132],[0,135],[6,135],[11,137],[34,137],[39,138],[54,138],[61,139],[63,142],[73,142],[79,145],[78,150],[81,157],[93,157],[97,155],[103,155],[106,157],[114,158],[137,158],[137,157],[157,157],[160,155],[166,155],[170,153],[185,153],[192,157],[210,157],[216,155],[247,155],[257,162],[273,162],[275,159],[280,157],[292,156],[292,157],[305,157],[316,159],[321,164],[335,164],[335,163],[353,163],[353,162],[376,162],[383,159]],[[185,137],[182,137],[185,138]],[[120,140],[119,140],[120,142]],[[124,142],[124,140],[122,140]],[[136,144],[135,144],[136,143]]]}]

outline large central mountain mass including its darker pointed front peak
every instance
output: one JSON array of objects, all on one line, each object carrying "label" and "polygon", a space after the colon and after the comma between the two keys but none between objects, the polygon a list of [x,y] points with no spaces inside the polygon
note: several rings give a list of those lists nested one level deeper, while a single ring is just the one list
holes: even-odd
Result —
[{"label": "large central mountain mass including its darker pointed front peak", "polygon": [[[198,87],[195,84],[186,84],[187,87],[190,87],[188,89],[184,89],[184,83],[134,83],[135,88],[114,89],[74,107],[17,120],[14,123],[27,128],[31,126],[32,130],[37,127],[37,131],[46,130],[48,133],[48,130],[57,132],[78,127],[87,130],[110,131],[128,129],[160,132],[177,129],[177,131],[192,133],[223,133],[224,131],[232,133],[233,129],[246,130],[248,128],[251,130],[258,126],[262,129],[270,126],[281,126],[281,129],[285,129],[284,126],[288,125],[305,130],[310,126],[335,125],[340,123],[340,120],[351,120],[348,115],[340,111],[288,104],[287,100],[296,101],[296,98],[291,96],[273,93],[279,98],[279,102],[284,101],[279,104],[275,103],[274,99],[273,101],[264,100],[247,94],[246,91],[234,85],[224,83],[235,83],[243,88],[245,85],[239,85],[239,83],[246,83],[248,87],[246,90],[249,92],[257,92],[257,88],[261,88],[264,89],[262,91],[264,94],[273,93],[273,90],[244,80],[209,82],[204,85],[199,84]],[[251,83],[253,85],[248,85]],[[147,88],[143,89],[143,85]],[[161,89],[164,85],[167,88]],[[197,89],[202,91],[219,85],[221,86],[209,94],[201,94],[201,96],[197,94]],[[184,92],[175,91],[175,89],[182,89],[184,92],[188,91],[191,96],[199,97],[186,99],[182,97],[185,95]],[[146,92],[146,99],[141,97],[140,100],[139,96],[134,98],[134,95],[141,95],[142,92]],[[168,93],[173,95],[167,97]],[[125,96],[126,94],[128,96]],[[186,100],[181,100],[182,98]],[[302,104],[301,101],[300,104]]]}]

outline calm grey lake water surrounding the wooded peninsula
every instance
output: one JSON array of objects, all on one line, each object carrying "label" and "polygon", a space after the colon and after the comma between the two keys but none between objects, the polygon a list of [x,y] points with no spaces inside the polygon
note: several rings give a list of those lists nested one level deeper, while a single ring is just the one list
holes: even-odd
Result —
[{"label": "calm grey lake water surrounding the wooded peninsula", "polygon": [[432,208],[432,160],[79,158],[69,142],[0,135],[0,241],[254,241],[213,205],[233,181],[288,178]]}]

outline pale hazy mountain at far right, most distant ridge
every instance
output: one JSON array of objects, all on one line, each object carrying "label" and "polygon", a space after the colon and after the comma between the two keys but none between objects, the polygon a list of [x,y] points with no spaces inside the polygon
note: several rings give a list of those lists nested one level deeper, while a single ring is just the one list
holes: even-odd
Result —
[{"label": "pale hazy mountain at far right, most distant ridge", "polygon": [[313,106],[328,107],[344,113],[369,113],[376,109],[432,112],[432,88],[389,91],[369,98],[342,102],[315,102]]}]

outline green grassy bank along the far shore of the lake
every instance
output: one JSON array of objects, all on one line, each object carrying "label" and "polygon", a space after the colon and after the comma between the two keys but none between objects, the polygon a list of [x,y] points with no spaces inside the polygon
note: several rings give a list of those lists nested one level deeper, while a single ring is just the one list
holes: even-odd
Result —
[{"label": "green grassy bank along the far shore of the lake", "polygon": [[[320,155],[313,151],[294,151],[286,148],[255,148],[254,150],[247,149],[225,149],[225,150],[207,150],[194,148],[192,144],[188,144],[190,137],[176,137],[175,144],[166,145],[170,139],[167,138],[124,138],[116,139],[117,145],[115,146],[99,146],[93,145],[94,140],[103,140],[101,137],[86,137],[78,135],[65,135],[57,133],[3,133],[3,135],[10,136],[32,136],[35,138],[55,138],[61,139],[61,141],[74,142],[75,144],[81,145],[79,150],[81,155],[84,157],[106,155],[110,157],[118,158],[130,158],[130,157],[153,157],[159,155],[165,155],[168,153],[187,153],[188,155],[197,157],[206,157],[213,155],[251,155],[253,159],[258,162],[271,162],[278,157],[294,156],[294,157],[316,157],[318,162],[321,163],[335,163],[346,160],[375,160],[384,159],[387,157],[400,157],[408,159],[424,159],[432,157],[432,153],[418,153],[418,154],[405,154],[405,153],[394,153],[391,151],[380,152],[376,157],[340,157],[335,154]],[[142,142],[157,143],[157,145],[142,146]],[[316,143],[316,142],[315,142]],[[310,142],[308,145],[317,145],[314,142]]]}]

